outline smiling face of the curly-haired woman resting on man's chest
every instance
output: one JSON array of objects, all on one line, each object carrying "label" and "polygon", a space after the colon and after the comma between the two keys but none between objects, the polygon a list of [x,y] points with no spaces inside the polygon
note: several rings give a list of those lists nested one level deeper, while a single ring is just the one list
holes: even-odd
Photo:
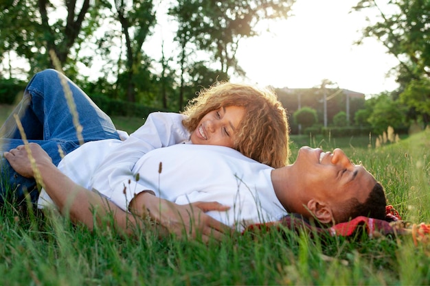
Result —
[{"label": "smiling face of the curly-haired woman resting on man's chest", "polygon": [[245,117],[242,106],[223,106],[208,112],[191,134],[193,144],[234,147],[238,126]]}]

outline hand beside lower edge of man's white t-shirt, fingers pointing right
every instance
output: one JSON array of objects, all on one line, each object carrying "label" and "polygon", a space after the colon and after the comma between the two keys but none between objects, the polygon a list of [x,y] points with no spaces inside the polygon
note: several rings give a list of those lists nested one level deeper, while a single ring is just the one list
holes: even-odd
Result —
[{"label": "hand beside lower edge of man's white t-shirt, fingers pointing right", "polygon": [[150,193],[139,193],[130,203],[131,212],[135,215],[150,216],[155,222],[166,228],[169,233],[179,237],[201,237],[205,242],[210,237],[221,240],[233,230],[206,215],[206,211],[227,211],[229,206],[218,202],[196,202],[179,205],[168,200],[157,198]]}]

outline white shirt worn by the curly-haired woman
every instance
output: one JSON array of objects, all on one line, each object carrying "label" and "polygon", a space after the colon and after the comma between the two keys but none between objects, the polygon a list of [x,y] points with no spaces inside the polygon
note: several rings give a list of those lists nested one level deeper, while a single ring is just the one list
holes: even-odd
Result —
[{"label": "white shirt worn by the curly-haired woman", "polygon": [[[128,184],[131,178],[135,163],[146,152],[190,142],[190,132],[182,124],[184,118],[185,115],[179,113],[153,112],[144,125],[126,140],[106,139],[84,143],[67,154],[58,164],[58,169],[86,189],[122,192],[124,184]],[[52,204],[49,195],[42,190],[38,206],[43,208]]]}]

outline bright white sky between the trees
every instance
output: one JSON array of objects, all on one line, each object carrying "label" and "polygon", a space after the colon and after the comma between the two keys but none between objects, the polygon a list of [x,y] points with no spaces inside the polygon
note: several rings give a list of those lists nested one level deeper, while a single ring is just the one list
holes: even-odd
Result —
[{"label": "bright white sky between the trees", "polygon": [[[311,88],[328,79],[340,88],[366,95],[394,90],[394,78],[386,75],[398,64],[396,58],[373,38],[365,39],[360,46],[353,44],[366,25],[365,16],[369,16],[349,13],[358,1],[297,0],[293,5],[295,16],[272,23],[270,32],[240,42],[236,57],[247,72],[245,82]],[[155,42],[168,37],[169,28],[168,23],[157,25]],[[160,44],[148,48],[145,51],[150,55],[159,53]]]}]

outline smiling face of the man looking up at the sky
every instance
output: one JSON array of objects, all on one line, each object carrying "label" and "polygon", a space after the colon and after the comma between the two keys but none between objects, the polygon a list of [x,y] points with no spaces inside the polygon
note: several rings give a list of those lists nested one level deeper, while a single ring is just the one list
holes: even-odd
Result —
[{"label": "smiling face of the man looking up at the sky", "polygon": [[340,149],[322,152],[302,147],[292,166],[299,189],[332,208],[350,198],[365,202],[376,180],[361,165],[353,165]]}]

